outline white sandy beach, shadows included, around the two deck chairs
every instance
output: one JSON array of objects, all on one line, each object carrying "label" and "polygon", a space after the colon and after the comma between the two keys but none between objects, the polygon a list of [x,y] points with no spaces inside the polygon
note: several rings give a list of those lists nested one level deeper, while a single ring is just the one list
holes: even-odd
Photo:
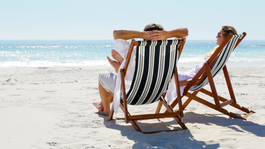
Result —
[{"label": "white sandy beach, shadows included, around the two deck chairs", "polygon": [[[108,122],[108,117],[96,114],[92,102],[100,101],[98,73],[114,72],[110,65],[1,69],[0,148],[262,148],[265,146],[265,66],[227,68],[238,104],[257,113],[248,121],[233,119],[192,101],[184,111],[187,130],[155,134],[136,132],[124,120]],[[214,80],[219,95],[230,97],[223,73]],[[206,88],[210,89],[209,85]],[[210,97],[201,97],[213,102]],[[128,106],[128,110],[151,114],[156,106],[157,103]],[[232,107],[227,109],[239,112]],[[123,116],[121,110],[114,115]],[[146,131],[179,127],[173,118],[142,120],[138,124]]]}]

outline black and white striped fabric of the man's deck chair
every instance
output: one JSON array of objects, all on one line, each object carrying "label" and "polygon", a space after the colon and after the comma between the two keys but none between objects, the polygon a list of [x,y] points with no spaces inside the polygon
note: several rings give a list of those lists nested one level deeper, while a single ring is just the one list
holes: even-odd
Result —
[{"label": "black and white striped fabric of the man's deck chair", "polygon": [[136,65],[132,85],[126,95],[127,104],[150,104],[165,93],[177,64],[180,41],[137,41]]}]

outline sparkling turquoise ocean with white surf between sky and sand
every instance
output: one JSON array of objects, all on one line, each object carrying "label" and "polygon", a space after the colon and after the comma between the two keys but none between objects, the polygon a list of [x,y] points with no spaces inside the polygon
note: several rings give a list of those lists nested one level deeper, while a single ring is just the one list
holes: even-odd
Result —
[{"label": "sparkling turquoise ocean with white surf between sky and sand", "polygon": [[[187,40],[179,66],[193,66],[216,46],[216,40]],[[0,40],[0,68],[105,65],[112,40]],[[243,40],[230,66],[265,65],[265,40]]]}]

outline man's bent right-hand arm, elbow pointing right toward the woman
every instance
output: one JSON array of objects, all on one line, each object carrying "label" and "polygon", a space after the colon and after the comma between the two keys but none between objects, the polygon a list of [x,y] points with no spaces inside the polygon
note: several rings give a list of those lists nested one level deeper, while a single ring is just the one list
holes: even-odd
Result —
[{"label": "man's bent right-hand arm, elbow pointing right toward the woman", "polygon": [[170,31],[166,30],[153,30],[151,34],[151,40],[165,40],[167,38],[182,38],[188,36],[188,29],[187,28],[176,28]]}]

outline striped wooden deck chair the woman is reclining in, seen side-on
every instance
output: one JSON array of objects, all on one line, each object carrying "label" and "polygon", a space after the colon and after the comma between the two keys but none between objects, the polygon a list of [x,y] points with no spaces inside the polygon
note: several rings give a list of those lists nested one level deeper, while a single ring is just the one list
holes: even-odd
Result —
[{"label": "striped wooden deck chair the woman is reclining in, seen side-on", "polygon": [[[234,49],[243,40],[245,36],[246,36],[246,33],[238,34],[238,35],[229,34],[225,38],[224,42],[216,49],[216,51],[209,58],[209,60],[203,65],[201,70],[199,70],[199,72],[194,76],[194,78],[184,88],[184,93],[182,97],[186,96],[188,97],[188,99],[186,100],[186,102],[184,102],[183,109],[185,109],[192,100],[195,100],[212,109],[220,111],[221,113],[228,115],[232,118],[239,118],[239,119],[246,120],[246,118],[248,118],[249,115],[252,115],[253,113],[255,113],[254,111],[250,111],[249,109],[245,107],[241,107],[236,103],[235,94],[234,94],[232,84],[230,82],[230,78],[228,75],[228,71],[225,65],[230,54],[234,51]],[[213,77],[215,77],[221,70],[223,70],[224,75],[225,75],[226,84],[227,84],[227,87],[230,93],[230,98],[231,98],[230,100],[219,96],[216,91]],[[198,80],[200,77],[204,79],[201,81],[200,84],[195,84],[195,81]],[[210,84],[212,92],[203,88],[208,83]],[[193,85],[198,85],[198,86],[192,88]],[[193,91],[193,93],[188,93],[188,91]],[[199,92],[213,97],[215,104],[196,96]],[[220,103],[220,101],[222,103]],[[176,104],[178,104],[178,100],[175,100],[170,106],[174,108]],[[244,116],[238,116],[235,113],[228,112],[227,110],[223,108],[224,106],[227,106],[227,105],[233,106],[243,112],[246,112],[247,114]],[[175,110],[175,111],[178,111],[178,110]],[[167,112],[168,111],[165,111],[165,113]]]}]

